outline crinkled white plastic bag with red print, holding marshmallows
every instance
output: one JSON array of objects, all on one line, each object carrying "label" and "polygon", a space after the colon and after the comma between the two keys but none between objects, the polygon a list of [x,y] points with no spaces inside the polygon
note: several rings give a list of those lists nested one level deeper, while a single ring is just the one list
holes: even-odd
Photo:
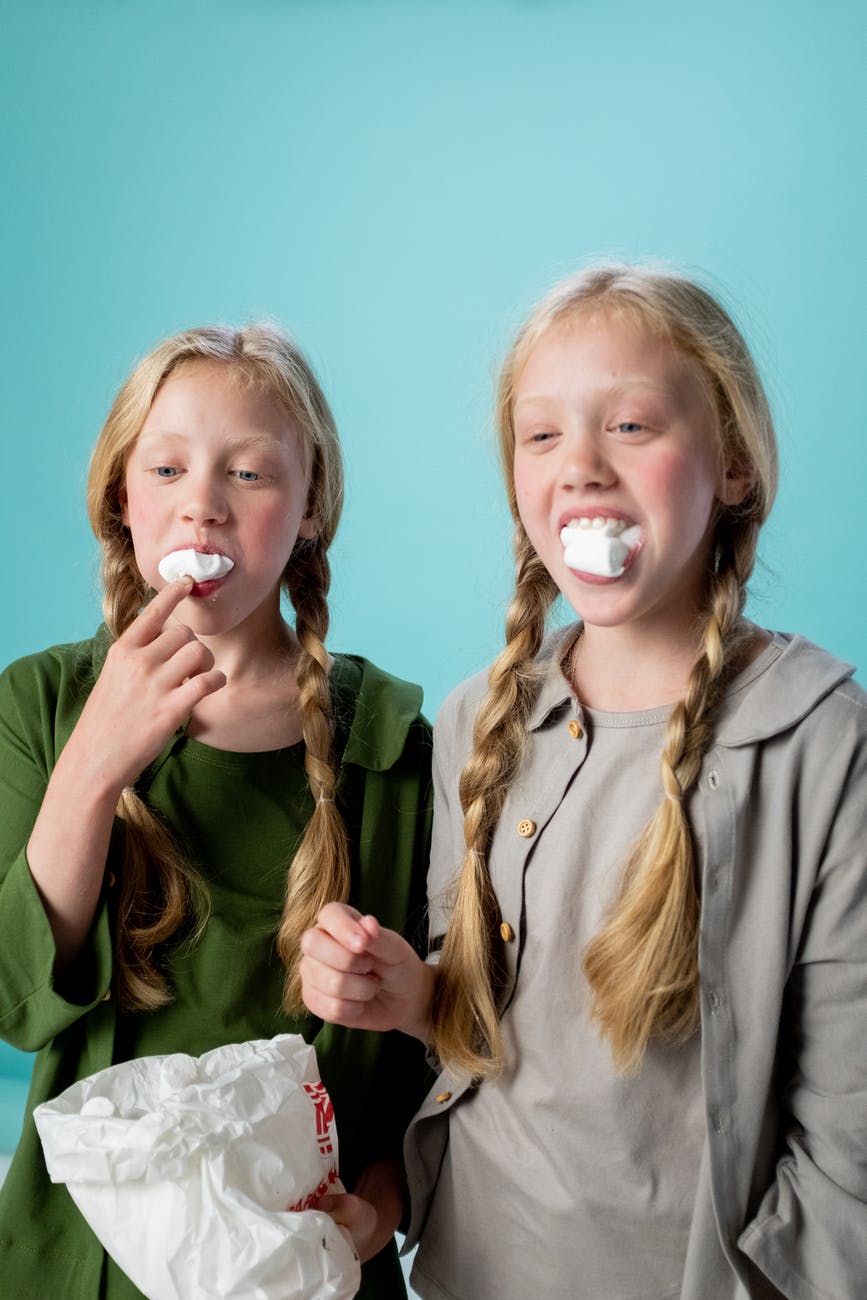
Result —
[{"label": "crinkled white plastic bag with red print, holding marshmallows", "polygon": [[[52,1182],[148,1300],[350,1300],[334,1110],[296,1034],[140,1057],[34,1112]],[[291,1209],[289,1209],[291,1206]]]}]

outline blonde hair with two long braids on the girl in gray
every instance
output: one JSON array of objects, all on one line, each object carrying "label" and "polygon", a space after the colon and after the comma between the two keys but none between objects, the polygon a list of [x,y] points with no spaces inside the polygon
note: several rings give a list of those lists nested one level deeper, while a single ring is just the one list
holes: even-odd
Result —
[{"label": "blonde hair with two long braids on the girl in gray", "polygon": [[594,266],[556,286],[519,332],[497,396],[502,465],[515,520],[516,586],[506,649],[490,670],[473,751],[460,780],[465,858],[456,878],[433,1011],[433,1041],[441,1060],[478,1078],[495,1076],[503,1066],[498,1019],[503,940],[486,854],[521,760],[538,685],[534,659],[558,594],[517,510],[512,411],[521,372],[539,339],[551,328],[588,315],[627,318],[697,363],[716,412],[723,462],[750,478],[737,507],[718,504],[702,647],[684,698],[668,720],[662,802],[625,863],[602,930],[584,954],[591,1015],[624,1074],[638,1069],[651,1037],[682,1040],[698,1023],[701,898],[684,800],[711,742],[714,711],[737,659],[746,582],[776,493],[776,438],[762,381],[737,326],[699,285],[641,266]]}]

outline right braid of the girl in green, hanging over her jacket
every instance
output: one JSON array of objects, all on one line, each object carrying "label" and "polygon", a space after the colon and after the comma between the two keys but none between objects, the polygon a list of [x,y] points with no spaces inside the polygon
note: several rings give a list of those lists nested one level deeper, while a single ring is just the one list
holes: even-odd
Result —
[{"label": "right braid of the girl in green, hanging over her jacket", "polygon": [[286,967],[283,1005],[287,1011],[303,1008],[300,992],[300,937],[316,923],[326,902],[346,902],[350,896],[350,850],[343,818],[335,802],[334,723],[329,690],[329,658],[325,650],[329,615],[326,595],[331,575],[325,547],[316,541],[302,545],[286,572],[300,641],[296,676],[304,770],[315,800],[313,815],[292,861],[286,888],[277,950]]}]

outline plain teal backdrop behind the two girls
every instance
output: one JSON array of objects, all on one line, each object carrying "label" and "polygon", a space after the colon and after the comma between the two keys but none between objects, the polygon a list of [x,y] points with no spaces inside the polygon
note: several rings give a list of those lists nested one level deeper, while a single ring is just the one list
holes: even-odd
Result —
[{"label": "plain teal backdrop behind the two girls", "polygon": [[133,360],[268,315],[346,447],[331,642],[435,714],[511,588],[497,360],[614,254],[724,289],[783,454],[750,610],[863,666],[863,57],[855,0],[0,0],[0,660],[99,620]]}]

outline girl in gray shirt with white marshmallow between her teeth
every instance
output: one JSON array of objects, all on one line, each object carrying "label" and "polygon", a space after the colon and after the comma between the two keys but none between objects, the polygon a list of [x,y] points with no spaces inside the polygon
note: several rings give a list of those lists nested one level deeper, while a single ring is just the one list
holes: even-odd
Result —
[{"label": "girl in gray shirt with white marshmallow between her teeth", "polygon": [[413,1284],[863,1300],[867,699],[744,619],[777,472],[747,347],[698,285],[594,268],[498,422],[516,588],[437,720],[430,961],[337,905],[303,940],[311,1010],[441,1066]]}]

